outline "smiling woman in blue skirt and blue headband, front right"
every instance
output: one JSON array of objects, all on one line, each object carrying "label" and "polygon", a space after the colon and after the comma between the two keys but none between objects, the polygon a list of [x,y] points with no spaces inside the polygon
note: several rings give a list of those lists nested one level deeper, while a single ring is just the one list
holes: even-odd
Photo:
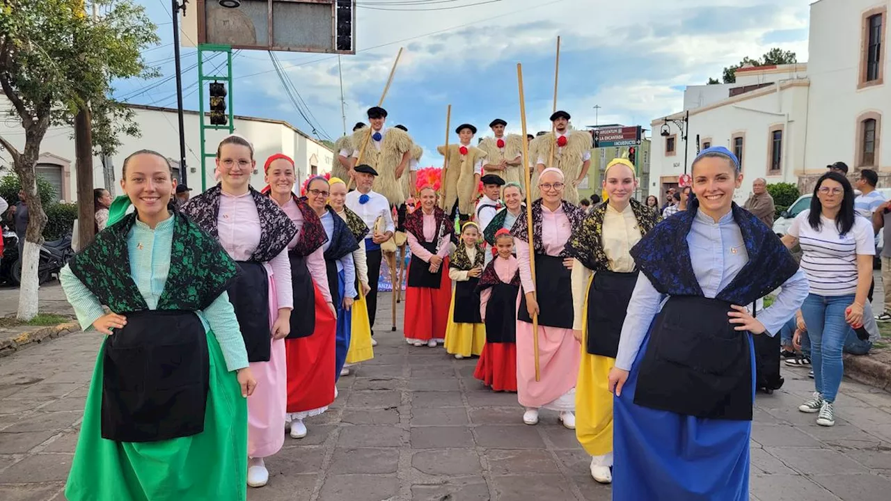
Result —
[{"label": "smiling woman in blue skirt and blue headband, front right", "polygon": [[807,296],[780,239],[733,203],[736,156],[707,148],[692,177],[688,209],[631,250],[641,275],[609,373],[614,501],[748,501],[751,337],[779,333]]}]

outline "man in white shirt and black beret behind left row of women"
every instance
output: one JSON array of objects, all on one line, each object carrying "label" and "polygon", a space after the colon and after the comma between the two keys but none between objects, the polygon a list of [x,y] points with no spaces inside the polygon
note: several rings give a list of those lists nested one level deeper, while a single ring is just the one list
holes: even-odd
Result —
[{"label": "man in white shirt and black beret behind left row of women", "polygon": [[[378,280],[380,279],[380,244],[387,242],[396,231],[389,202],[380,193],[372,191],[374,178],[378,173],[371,166],[361,164],[353,168],[356,177],[356,190],[347,193],[347,207],[356,212],[368,226],[365,237],[365,259],[368,262],[368,285],[372,288],[365,300],[368,301],[368,320],[374,335],[374,317],[378,311]],[[378,228],[378,220],[383,223],[383,232]],[[379,231],[375,231],[375,229]],[[372,344],[377,344],[372,340]]]}]

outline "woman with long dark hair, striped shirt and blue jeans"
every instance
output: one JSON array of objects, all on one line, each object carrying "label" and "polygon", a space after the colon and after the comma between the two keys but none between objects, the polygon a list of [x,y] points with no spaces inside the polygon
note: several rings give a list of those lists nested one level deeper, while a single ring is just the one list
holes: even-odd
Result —
[{"label": "woman with long dark hair, striped shirt and blue jeans", "polygon": [[854,189],[838,172],[827,172],[813,188],[811,208],[792,221],[782,237],[790,249],[801,244],[801,267],[810,294],[801,307],[811,341],[813,398],[798,407],[818,414],[817,424],[835,424],[835,398],[845,371],[841,354],[851,325],[863,323],[875,255],[872,227],[854,211]]}]

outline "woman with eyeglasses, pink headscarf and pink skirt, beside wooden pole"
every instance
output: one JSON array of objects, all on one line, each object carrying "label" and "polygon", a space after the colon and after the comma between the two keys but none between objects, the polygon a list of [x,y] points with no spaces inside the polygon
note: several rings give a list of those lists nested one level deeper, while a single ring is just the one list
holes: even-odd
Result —
[{"label": "woman with eyeglasses, pink headscarf and pink skirt, beside wooden pole", "polygon": [[[532,231],[520,217],[511,229],[523,289],[517,315],[517,393],[526,407],[523,423],[538,423],[538,409],[560,412],[560,421],[576,428],[576,378],[581,360],[573,337],[572,262],[564,245],[572,228],[581,226],[584,209],[563,200],[566,187],[559,168],[545,168],[538,177],[541,198],[532,202]],[[529,238],[535,248],[535,280]],[[532,317],[538,316],[540,381],[535,381]]]}]

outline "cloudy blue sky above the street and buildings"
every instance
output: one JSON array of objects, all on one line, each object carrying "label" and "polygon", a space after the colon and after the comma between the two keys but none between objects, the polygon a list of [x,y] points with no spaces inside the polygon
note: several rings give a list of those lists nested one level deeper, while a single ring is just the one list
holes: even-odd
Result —
[{"label": "cloudy blue sky above the street and buildings", "polygon": [[[208,0],[213,1],[213,0]],[[523,65],[527,128],[550,127],[554,56],[561,37],[558,108],[575,127],[598,123],[648,127],[683,106],[683,87],[721,78],[724,66],[779,46],[807,61],[810,0],[358,0],[356,55],[342,57],[347,127],[367,121],[399,47],[405,47],[384,107],[388,126],[405,124],[425,153],[470,122],[479,134],[495,118],[519,132],[517,62]],[[131,103],[176,107],[168,0],[142,0],[159,25],[160,45],[145,53],[163,75],[116,84]],[[190,5],[191,6],[191,5]],[[388,9],[388,10],[381,10]],[[190,10],[187,15],[194,15]],[[307,123],[284,91],[269,54],[242,51],[233,61],[234,112],[284,119],[307,134],[343,134],[338,58],[276,53],[311,112]],[[183,50],[183,67],[197,61]],[[211,68],[217,62],[211,62]],[[185,107],[198,109],[197,72],[184,72]],[[159,82],[163,82],[160,83]],[[158,85],[159,84],[159,85]],[[451,136],[455,140],[454,134]]]}]

